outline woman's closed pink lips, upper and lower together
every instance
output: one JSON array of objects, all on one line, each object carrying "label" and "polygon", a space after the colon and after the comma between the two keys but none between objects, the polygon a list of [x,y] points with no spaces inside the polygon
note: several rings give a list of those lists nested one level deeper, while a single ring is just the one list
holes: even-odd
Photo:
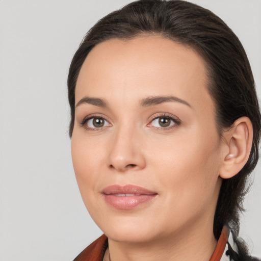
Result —
[{"label": "woman's closed pink lips, upper and lower together", "polygon": [[158,193],[135,185],[112,185],[101,191],[105,201],[120,210],[129,210],[151,201]]}]

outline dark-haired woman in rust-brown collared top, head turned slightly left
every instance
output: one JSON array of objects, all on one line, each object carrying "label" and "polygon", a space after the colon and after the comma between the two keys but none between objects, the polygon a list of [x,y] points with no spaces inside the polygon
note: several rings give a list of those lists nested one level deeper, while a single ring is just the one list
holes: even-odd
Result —
[{"label": "dark-haired woman in rust-brown collared top, head turned slightly left", "polygon": [[102,18],[68,76],[76,179],[105,233],[75,260],[254,260],[237,238],[260,113],[212,12],[142,0]]}]

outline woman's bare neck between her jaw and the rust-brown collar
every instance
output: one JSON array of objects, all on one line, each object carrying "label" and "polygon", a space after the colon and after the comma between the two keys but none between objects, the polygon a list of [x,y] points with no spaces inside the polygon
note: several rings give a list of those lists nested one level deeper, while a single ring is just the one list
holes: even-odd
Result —
[{"label": "woman's bare neck between her jaw and the rust-brown collar", "polygon": [[[197,222],[196,222],[197,223]],[[208,261],[217,245],[213,223],[192,224],[166,238],[124,243],[109,239],[111,261]]]}]

